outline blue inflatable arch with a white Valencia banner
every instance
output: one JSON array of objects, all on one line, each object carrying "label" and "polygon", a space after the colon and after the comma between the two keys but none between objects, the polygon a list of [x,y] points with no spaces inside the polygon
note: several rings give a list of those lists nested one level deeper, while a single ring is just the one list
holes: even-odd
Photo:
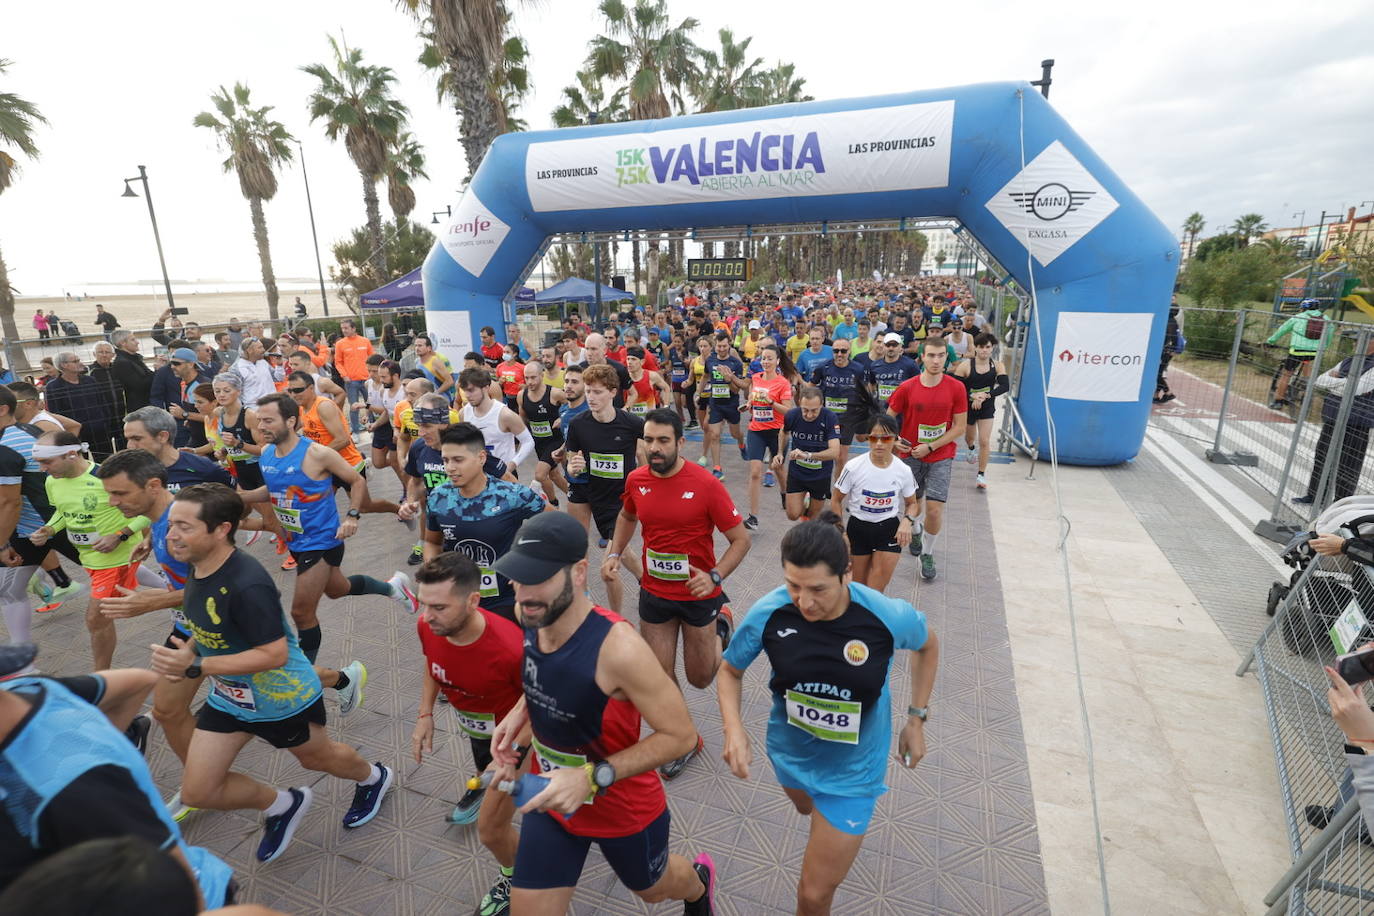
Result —
[{"label": "blue inflatable arch with a white Valencia banner", "polygon": [[556,233],[900,217],[958,218],[1035,293],[1041,452],[1052,417],[1061,461],[1135,457],[1178,244],[1025,82],[504,135],[425,261],[426,319],[474,347]]}]

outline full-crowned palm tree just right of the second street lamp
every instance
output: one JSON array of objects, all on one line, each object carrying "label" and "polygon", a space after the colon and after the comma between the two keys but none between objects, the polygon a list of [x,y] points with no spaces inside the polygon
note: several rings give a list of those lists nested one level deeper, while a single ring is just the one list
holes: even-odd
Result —
[{"label": "full-crowned palm tree just right of the second street lamp", "polygon": [[301,67],[320,81],[309,98],[311,122],[323,119],[330,140],[344,136],[344,147],[363,177],[372,264],[378,273],[387,276],[376,183],[386,168],[386,147],[400,136],[409,111],[392,96],[396,74],[390,67],[363,63],[361,49],[341,48],[333,36],[330,48],[334,51],[333,70],[323,63]]}]

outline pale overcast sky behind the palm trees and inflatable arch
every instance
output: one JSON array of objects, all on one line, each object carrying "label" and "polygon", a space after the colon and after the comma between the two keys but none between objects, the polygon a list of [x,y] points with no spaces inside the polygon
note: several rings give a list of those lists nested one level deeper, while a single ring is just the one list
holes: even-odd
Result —
[{"label": "pale overcast sky behind the palm trees and inflatable arch", "polygon": [[[728,26],[765,62],[790,60],[818,99],[1036,78],[1054,58],[1051,102],[1178,229],[1193,210],[1213,227],[1242,213],[1290,225],[1307,210],[1374,206],[1374,15],[1367,0],[1256,4],[1160,0],[941,3],[833,0],[671,4],[716,45]],[[842,11],[842,12],[841,12]],[[592,0],[517,8],[533,55],[530,128],[550,113],[599,26]],[[308,124],[327,33],[396,70],[429,155],[415,218],[458,196],[467,174],[456,117],[418,65],[415,25],[386,0],[239,0],[228,7],[140,0],[18,4],[5,14],[0,91],[51,121],[43,158],[0,196],[0,250],[22,294],[158,277],[143,201],[122,179],[148,168],[173,279],[260,276],[247,202],[209,130],[191,118],[218,85],[243,81],[304,143],[322,257],[364,220],[361,180],[344,146]],[[385,187],[379,187],[386,213]],[[315,275],[300,168],[267,205],[280,277]]]}]

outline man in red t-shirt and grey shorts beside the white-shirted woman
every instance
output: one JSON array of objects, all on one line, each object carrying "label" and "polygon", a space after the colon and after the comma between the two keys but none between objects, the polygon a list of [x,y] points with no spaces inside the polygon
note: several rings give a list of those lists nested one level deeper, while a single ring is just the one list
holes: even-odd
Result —
[{"label": "man in red t-shirt and grey shorts beside the white-shirted woman", "polygon": [[945,374],[944,338],[927,339],[921,347],[921,375],[907,379],[888,398],[888,412],[901,417],[901,438],[911,442],[903,460],[921,488],[925,525],[912,519],[912,556],[921,558],[921,578],[936,577],[936,538],[944,525],[944,504],[949,499],[955,442],[969,417],[969,393],[963,382]]}]

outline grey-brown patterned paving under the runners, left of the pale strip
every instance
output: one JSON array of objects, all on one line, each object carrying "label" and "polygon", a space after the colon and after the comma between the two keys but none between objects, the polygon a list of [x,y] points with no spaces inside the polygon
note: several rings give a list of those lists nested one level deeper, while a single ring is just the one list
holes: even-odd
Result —
[{"label": "grey-brown patterned paving under the runners, left of the pale strip", "polygon": [[[687,449],[695,457],[699,441]],[[725,483],[736,504],[747,505],[746,466],[734,457],[736,452],[728,444],[724,453],[730,456]],[[522,478],[529,479],[528,471]],[[371,477],[379,494],[398,494],[390,471],[374,471]],[[763,507],[753,549],[727,582],[736,614],[780,582],[778,548],[789,523],[778,505],[778,490],[764,490]],[[991,525],[987,503],[973,486],[973,466],[958,461],[937,548],[938,578],[921,582],[916,560],[904,553],[888,589],[923,610],[940,636],[940,674],[926,729],[929,754],[910,772],[889,762],[892,791],[878,802],[863,849],[837,894],[835,913],[1048,912]],[[717,540],[723,545],[724,538]],[[411,534],[398,522],[365,516],[360,534],[349,541],[345,573],[385,578],[404,569]],[[269,545],[258,542],[247,549],[276,570]],[[595,544],[592,556],[599,558]],[[293,574],[275,575],[289,593]],[[600,597],[599,581],[594,595]],[[625,595],[625,615],[638,621],[636,591],[627,586]],[[316,792],[315,806],[291,847],[276,862],[260,865],[253,858],[260,817],[251,812],[194,813],[183,823],[188,842],[212,849],[234,867],[242,901],[287,913],[471,912],[496,868],[477,839],[475,825],[445,821],[471,770],[467,742],[444,715],[445,707],[436,717],[434,754],[422,765],[409,757],[423,670],[415,619],[381,597],[326,599],[320,619],[320,662],[339,666],[357,658],[368,669],[365,703],[348,718],[337,717],[333,691],[326,694],[331,735],[359,747],[368,759],[397,769],[397,787],[382,813],[363,828],[344,829],[339,820],[352,786],[302,770],[290,754],[253,742],[240,754],[238,769],[278,787],[309,784]],[[148,645],[161,641],[166,629],[162,614],[122,621],[115,665],[144,666]],[[40,617],[34,639],[43,647],[40,663],[45,672],[77,674],[89,669],[89,643],[77,608]],[[908,689],[904,655],[896,667],[890,683],[900,715]],[[760,659],[745,680],[745,721],[756,748],[747,781],[731,776],[720,759],[714,691],[687,688],[706,753],[668,786],[672,849],[687,854],[706,850],[716,858],[719,913],[794,909],[807,820],[791,809],[763,753],[767,673],[765,659]],[[170,797],[180,769],[157,729],[148,764]],[[639,902],[594,849],[570,912],[647,913],[673,908]]]}]

